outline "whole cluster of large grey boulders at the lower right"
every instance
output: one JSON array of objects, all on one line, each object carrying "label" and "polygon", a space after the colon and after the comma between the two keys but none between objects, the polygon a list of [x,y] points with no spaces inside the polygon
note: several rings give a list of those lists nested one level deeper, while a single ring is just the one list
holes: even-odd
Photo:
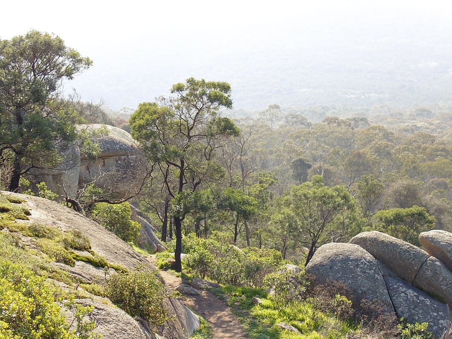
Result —
[{"label": "whole cluster of large grey boulders at the lower right", "polygon": [[[389,297],[397,318],[403,317],[413,323],[428,322],[428,330],[435,338],[440,338],[448,322],[446,303],[452,304],[452,272],[433,254],[439,253],[439,257],[448,261],[444,249],[450,248],[448,239],[452,234],[445,231],[426,233],[429,234],[419,238],[421,243],[427,244],[424,248],[429,253],[381,232],[363,232],[350,243],[321,246],[305,271],[314,276],[314,281],[323,283],[330,279],[344,283],[352,293],[350,298],[354,300],[354,306],[357,299],[366,298],[361,290],[372,290],[377,284],[382,291],[382,303],[387,304]],[[370,274],[366,276],[363,271]],[[360,286],[361,283],[364,286]],[[330,286],[334,288],[334,284]],[[377,295],[377,292],[371,295]]]}]

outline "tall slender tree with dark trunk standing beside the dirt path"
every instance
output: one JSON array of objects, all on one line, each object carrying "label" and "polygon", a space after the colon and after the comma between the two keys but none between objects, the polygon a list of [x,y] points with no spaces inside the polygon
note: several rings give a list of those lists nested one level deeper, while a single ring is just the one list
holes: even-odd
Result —
[{"label": "tall slender tree with dark trunk standing beside the dirt path", "polygon": [[[175,227],[176,271],[182,271],[182,221],[190,209],[184,208],[187,193],[201,189],[203,183],[216,180],[224,169],[215,161],[215,152],[223,146],[225,136],[239,130],[218,110],[231,108],[231,88],[227,82],[196,80],[176,83],[175,96],[159,103],[142,103],[130,118],[132,136],[137,139],[149,160],[163,174],[172,198]],[[174,178],[174,180],[171,180]]]}]

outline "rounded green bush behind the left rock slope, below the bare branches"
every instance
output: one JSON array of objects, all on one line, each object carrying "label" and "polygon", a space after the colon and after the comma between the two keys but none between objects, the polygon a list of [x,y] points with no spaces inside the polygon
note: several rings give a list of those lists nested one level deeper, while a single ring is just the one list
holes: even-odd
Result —
[{"label": "rounded green bush behind the left rock slope, below the bare branches", "polygon": [[126,242],[134,242],[140,234],[141,225],[131,220],[129,203],[96,203],[91,217],[107,230],[115,233]]}]

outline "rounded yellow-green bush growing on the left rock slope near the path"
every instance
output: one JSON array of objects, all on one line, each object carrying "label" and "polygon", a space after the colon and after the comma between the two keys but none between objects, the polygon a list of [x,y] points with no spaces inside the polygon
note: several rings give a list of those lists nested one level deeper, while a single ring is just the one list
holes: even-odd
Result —
[{"label": "rounded yellow-green bush growing on the left rock slope near the path", "polygon": [[162,306],[168,297],[156,271],[144,267],[114,274],[105,287],[108,298],[131,316],[140,316],[152,328],[163,325],[168,315]]}]

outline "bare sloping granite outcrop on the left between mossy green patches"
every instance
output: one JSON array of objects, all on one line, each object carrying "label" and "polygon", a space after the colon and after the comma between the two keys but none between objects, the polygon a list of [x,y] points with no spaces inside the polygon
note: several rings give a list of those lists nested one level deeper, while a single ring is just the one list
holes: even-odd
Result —
[{"label": "bare sloping granite outcrop on the left between mossy green patches", "polygon": [[[134,251],[130,245],[82,214],[46,199],[16,195],[25,201],[22,203],[23,206],[30,210],[31,214],[28,216],[30,220],[27,222],[41,223],[59,228],[61,231],[78,230],[89,238],[91,250],[104,257],[109,263],[119,265],[130,271],[137,266],[153,269],[149,261]],[[35,244],[35,242],[31,242],[32,245],[33,243]],[[27,242],[24,241],[22,244],[27,244]],[[36,245],[33,249],[36,250]],[[80,253],[80,255],[83,255],[83,253]],[[61,263],[52,263],[51,265],[67,271],[70,276],[75,276],[76,280],[86,283],[102,283],[105,281],[105,274],[108,274],[103,269],[80,261],[75,261],[75,267]],[[59,283],[57,282],[58,285]],[[61,285],[61,288],[64,289],[63,285]],[[74,287],[71,286],[71,288]],[[78,288],[78,290],[81,289]],[[169,291],[168,294],[170,294]],[[128,316],[113,307],[112,303],[106,298],[103,298],[102,302],[99,302],[98,299],[98,297],[91,295],[80,300],[80,303],[94,306],[95,313],[93,314],[96,319],[100,320],[95,331],[101,334],[102,338],[156,338],[157,333],[150,332],[146,322]],[[162,308],[168,312],[169,317],[165,325],[159,329],[158,335],[161,336],[160,338],[189,338],[194,329],[199,326],[197,316],[177,299],[165,298]]]}]

